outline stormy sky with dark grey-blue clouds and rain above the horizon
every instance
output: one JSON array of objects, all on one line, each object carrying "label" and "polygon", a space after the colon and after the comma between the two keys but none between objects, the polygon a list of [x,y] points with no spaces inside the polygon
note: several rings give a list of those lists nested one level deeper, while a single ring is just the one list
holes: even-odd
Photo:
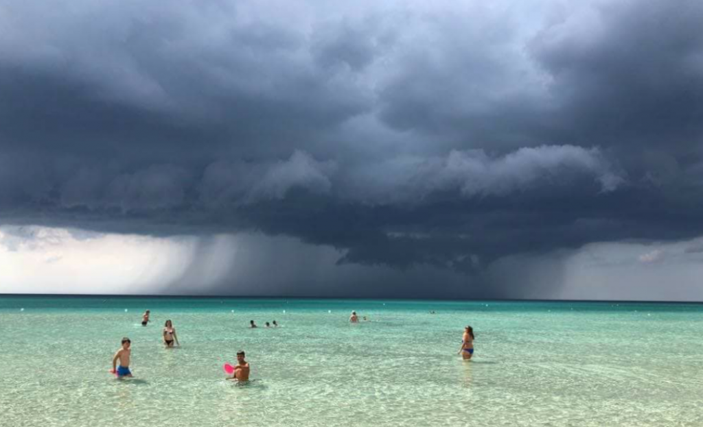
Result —
[{"label": "stormy sky with dark grey-blue clouds and rain above the horizon", "polygon": [[0,292],[703,301],[703,3],[0,0]]}]

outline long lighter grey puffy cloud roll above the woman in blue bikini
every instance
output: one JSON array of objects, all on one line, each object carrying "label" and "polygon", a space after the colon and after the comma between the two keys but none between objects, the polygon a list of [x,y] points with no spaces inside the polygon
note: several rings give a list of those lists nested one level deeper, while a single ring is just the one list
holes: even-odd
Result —
[{"label": "long lighter grey puffy cloud roll above the woman in blue bikini", "polygon": [[[591,178],[602,192],[626,182],[624,174],[598,148],[569,145],[524,147],[503,157],[484,150],[452,150],[444,157],[396,157],[352,173],[359,197],[379,203],[420,201],[442,191],[461,197],[508,196],[535,188],[568,185]],[[349,194],[354,194],[350,192]]]}]

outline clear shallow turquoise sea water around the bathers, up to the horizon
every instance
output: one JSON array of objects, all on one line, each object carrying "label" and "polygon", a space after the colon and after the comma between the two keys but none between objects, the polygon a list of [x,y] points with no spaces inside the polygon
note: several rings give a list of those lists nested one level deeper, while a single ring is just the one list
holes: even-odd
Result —
[{"label": "clear shallow turquoise sea water around the bathers, up to the horizon", "polygon": [[2,426],[703,426],[702,401],[702,305],[0,296]]}]

